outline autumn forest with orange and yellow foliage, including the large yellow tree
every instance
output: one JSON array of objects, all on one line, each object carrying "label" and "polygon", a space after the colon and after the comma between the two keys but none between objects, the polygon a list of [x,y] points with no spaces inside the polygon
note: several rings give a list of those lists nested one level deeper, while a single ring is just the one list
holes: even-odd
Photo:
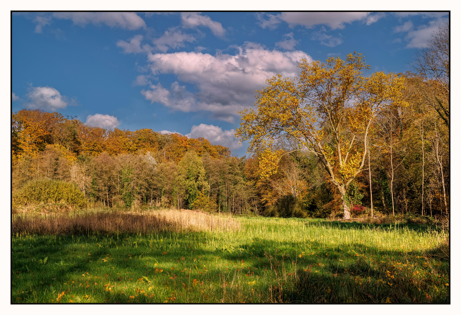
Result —
[{"label": "autumn forest with orange and yellow foliage, including the large yellow tree", "polygon": [[[274,77],[257,91],[258,112],[242,112],[237,135],[252,140],[245,157],[203,138],[89,127],[77,117],[23,109],[12,113],[13,196],[29,181],[53,179],[76,185],[88,207],[316,218],[343,216],[346,207],[352,217],[445,216],[448,26],[413,66],[364,77],[356,53],[301,62],[298,78]],[[24,204],[13,200],[15,207]]]}]

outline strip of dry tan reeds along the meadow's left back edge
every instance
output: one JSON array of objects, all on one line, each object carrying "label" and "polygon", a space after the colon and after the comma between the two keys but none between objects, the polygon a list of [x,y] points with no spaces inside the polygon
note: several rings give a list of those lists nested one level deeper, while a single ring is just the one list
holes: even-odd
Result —
[{"label": "strip of dry tan reeds along the meadow's left back edge", "polygon": [[240,229],[231,217],[212,216],[190,210],[157,210],[136,212],[86,212],[72,215],[21,214],[12,218],[12,233],[18,234],[83,234],[142,233],[174,231],[230,231]]}]

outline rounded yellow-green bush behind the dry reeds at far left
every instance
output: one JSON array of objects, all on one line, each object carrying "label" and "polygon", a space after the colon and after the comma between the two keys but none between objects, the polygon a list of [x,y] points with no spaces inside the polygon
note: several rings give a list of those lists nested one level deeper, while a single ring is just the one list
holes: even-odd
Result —
[{"label": "rounded yellow-green bush behind the dry reeds at far left", "polygon": [[76,185],[51,179],[29,181],[12,196],[12,210],[56,204],[82,207],[85,204],[85,198]]}]

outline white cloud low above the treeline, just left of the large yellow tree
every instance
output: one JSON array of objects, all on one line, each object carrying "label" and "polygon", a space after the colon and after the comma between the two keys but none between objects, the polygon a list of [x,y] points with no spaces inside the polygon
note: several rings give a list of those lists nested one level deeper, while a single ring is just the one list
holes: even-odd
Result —
[{"label": "white cloud low above the treeline, just left of the large yellow tree", "polygon": [[241,148],[243,145],[235,137],[235,130],[223,130],[221,127],[206,125],[201,123],[198,126],[192,126],[190,133],[186,134],[188,138],[205,138],[213,145],[221,145],[231,150]]}]

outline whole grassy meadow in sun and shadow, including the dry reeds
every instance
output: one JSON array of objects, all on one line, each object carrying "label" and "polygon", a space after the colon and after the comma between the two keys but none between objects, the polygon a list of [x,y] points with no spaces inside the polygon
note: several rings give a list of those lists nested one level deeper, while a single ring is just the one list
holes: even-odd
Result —
[{"label": "whole grassy meadow in sun and shadow, including the dry reeds", "polygon": [[171,210],[13,217],[12,303],[450,303],[449,285],[447,235],[434,226]]}]

